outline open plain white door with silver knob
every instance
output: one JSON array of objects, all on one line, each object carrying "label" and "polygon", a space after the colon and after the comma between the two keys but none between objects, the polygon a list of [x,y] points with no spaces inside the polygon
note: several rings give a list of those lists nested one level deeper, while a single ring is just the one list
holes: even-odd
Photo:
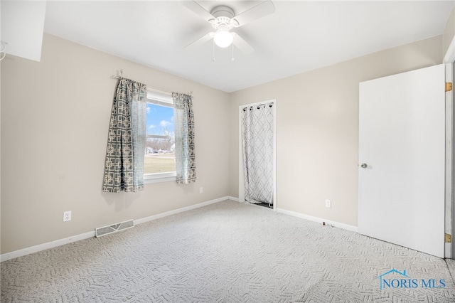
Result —
[{"label": "open plain white door with silver knob", "polygon": [[359,233],[444,257],[444,65],[359,88]]}]

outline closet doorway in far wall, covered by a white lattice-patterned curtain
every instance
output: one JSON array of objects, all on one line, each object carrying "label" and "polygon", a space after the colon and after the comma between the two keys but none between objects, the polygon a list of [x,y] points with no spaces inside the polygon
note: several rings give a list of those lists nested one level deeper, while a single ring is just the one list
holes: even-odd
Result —
[{"label": "closet doorway in far wall, covered by a white lattice-patterned curtain", "polygon": [[239,201],[277,209],[277,100],[239,107]]}]

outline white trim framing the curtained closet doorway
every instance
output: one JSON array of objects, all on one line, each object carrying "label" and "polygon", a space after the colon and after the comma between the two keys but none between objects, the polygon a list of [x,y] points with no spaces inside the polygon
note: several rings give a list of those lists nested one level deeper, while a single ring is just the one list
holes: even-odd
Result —
[{"label": "white trim framing the curtained closet doorway", "polygon": [[257,106],[264,103],[274,103],[273,108],[273,210],[277,211],[277,99],[239,105],[239,202],[245,203],[245,183],[243,176],[242,151],[242,109],[248,106]]}]

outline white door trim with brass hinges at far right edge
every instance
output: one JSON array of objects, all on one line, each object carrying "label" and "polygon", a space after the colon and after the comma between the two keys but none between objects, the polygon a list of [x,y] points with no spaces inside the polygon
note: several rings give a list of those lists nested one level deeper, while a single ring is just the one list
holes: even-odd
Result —
[{"label": "white door trim with brass hinges at far right edge", "polygon": [[[454,83],[454,63],[455,63],[455,36],[452,38],[449,48],[442,62],[446,70],[446,82]],[[446,92],[446,184],[445,184],[445,215],[444,233],[451,235],[452,240],[445,243],[444,257],[455,257],[454,241],[455,231],[455,201],[454,201],[454,91]]]}]

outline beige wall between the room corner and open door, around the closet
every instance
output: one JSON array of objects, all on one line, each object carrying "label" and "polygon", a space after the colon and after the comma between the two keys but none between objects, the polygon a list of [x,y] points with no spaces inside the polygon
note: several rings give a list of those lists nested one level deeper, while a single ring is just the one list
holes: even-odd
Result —
[{"label": "beige wall between the room corner and open door, around the closet", "polygon": [[[277,99],[277,207],[357,226],[358,84],[442,62],[441,36],[233,92],[230,196],[238,196],[238,108]],[[304,60],[304,58],[302,58]],[[331,199],[332,208],[324,201]]]}]

